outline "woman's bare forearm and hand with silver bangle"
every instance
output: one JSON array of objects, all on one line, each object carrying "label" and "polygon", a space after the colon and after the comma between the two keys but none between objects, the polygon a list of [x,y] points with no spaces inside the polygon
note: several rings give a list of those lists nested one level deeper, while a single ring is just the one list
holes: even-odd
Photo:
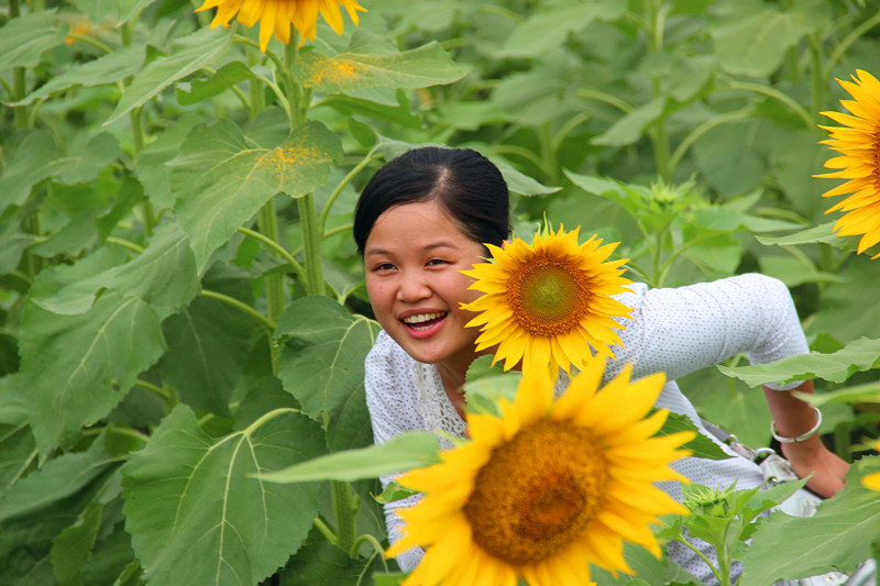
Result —
[{"label": "woman's bare forearm and hand with silver bangle", "polygon": [[[813,392],[813,382],[805,380],[793,390]],[[816,424],[816,412],[790,391],[763,387],[767,406],[773,418],[777,435],[798,438]],[[849,464],[825,447],[818,433],[800,442],[782,443],[782,455],[791,462],[794,473],[803,478],[813,477],[806,486],[822,497],[831,497],[844,487],[844,475]]]}]

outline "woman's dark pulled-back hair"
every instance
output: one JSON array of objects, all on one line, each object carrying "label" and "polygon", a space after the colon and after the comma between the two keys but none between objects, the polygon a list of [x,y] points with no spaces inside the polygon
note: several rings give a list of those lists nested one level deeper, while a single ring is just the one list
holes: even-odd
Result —
[{"label": "woman's dark pulled-back hair", "polygon": [[510,234],[507,184],[498,167],[470,148],[425,146],[389,161],[366,184],[354,209],[354,242],[364,253],[373,224],[388,209],[437,201],[479,244]]}]

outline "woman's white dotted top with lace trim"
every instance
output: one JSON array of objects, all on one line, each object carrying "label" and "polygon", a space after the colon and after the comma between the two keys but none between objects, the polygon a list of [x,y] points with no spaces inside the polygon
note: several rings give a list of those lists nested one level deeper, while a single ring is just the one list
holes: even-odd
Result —
[{"label": "woman's white dotted top with lace trim", "polygon": [[[634,319],[619,320],[626,327],[620,332],[623,349],[612,349],[616,361],[606,366],[604,380],[613,378],[630,362],[634,379],[666,372],[668,383],[656,406],[688,416],[713,440],[691,401],[679,390],[675,378],[740,353],[747,353],[750,363],[762,364],[809,352],[791,295],[777,279],[748,274],[674,289],[648,289],[644,284],[629,288],[631,292],[616,298],[632,308]],[[790,384],[789,388],[796,385]],[[563,373],[557,383],[557,395],[566,386]],[[437,367],[413,360],[385,332],[380,333],[366,357],[365,387],[376,443],[414,430],[464,435],[466,424],[447,397]],[[443,447],[450,447],[442,434],[438,438]],[[734,482],[738,488],[752,488],[762,483],[763,476],[757,465],[726,446],[723,449],[730,453],[730,460],[689,457],[674,463],[673,467],[694,483],[718,488]],[[389,480],[391,477],[382,478],[383,486]],[[659,486],[678,500],[682,499],[678,483]],[[385,506],[393,541],[399,537],[402,527],[395,511],[411,506],[417,498]],[[703,543],[701,549],[705,548]],[[706,549],[704,553],[711,552]],[[696,577],[713,582],[710,568],[690,549],[672,542],[669,554]],[[421,555],[421,550],[414,549],[397,561],[400,567],[409,571]]]}]

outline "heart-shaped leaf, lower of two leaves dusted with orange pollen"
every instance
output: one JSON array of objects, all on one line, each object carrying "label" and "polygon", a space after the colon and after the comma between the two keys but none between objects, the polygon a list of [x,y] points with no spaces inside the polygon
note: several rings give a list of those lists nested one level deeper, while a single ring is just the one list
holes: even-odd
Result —
[{"label": "heart-shaped leaf, lower of two leaves dusted with orange pollen", "polygon": [[178,220],[199,270],[266,201],[314,191],[341,158],[339,139],[320,122],[299,126],[275,148],[253,147],[228,120],[194,128],[168,165]]}]

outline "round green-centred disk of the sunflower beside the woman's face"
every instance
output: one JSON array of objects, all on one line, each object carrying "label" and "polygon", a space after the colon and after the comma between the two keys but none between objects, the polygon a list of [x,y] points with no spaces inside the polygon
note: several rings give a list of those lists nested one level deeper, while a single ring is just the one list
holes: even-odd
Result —
[{"label": "round green-centred disk of the sunflower beside the woman's face", "polygon": [[557,335],[576,327],[588,308],[590,283],[568,258],[536,258],[516,270],[508,299],[517,321],[538,335]]}]

